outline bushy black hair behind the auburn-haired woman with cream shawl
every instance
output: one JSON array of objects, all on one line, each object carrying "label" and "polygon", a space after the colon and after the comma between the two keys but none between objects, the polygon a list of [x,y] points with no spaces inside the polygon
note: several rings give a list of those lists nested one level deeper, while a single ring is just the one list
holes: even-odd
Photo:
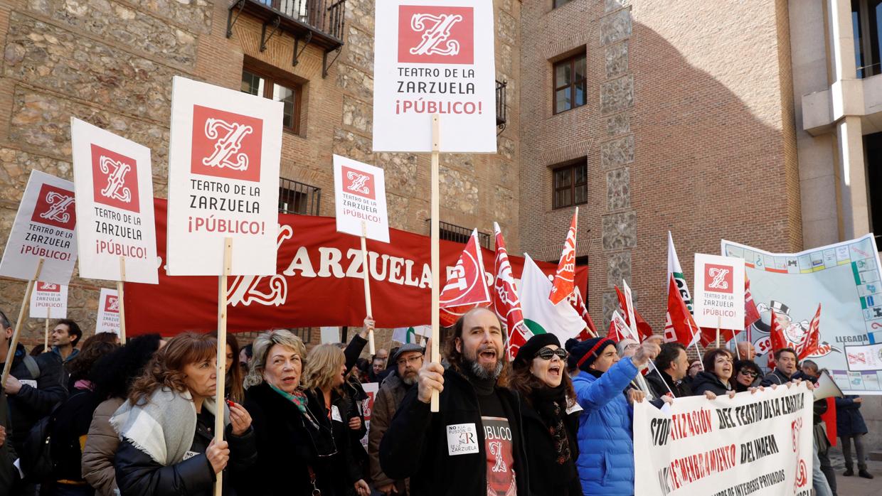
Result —
[{"label": "bushy black hair behind the auburn-haired woman with cream shawl", "polygon": [[144,372],[144,366],[160,348],[159,334],[147,334],[129,339],[115,352],[101,357],[92,367],[89,380],[101,398],[129,396],[131,383]]}]

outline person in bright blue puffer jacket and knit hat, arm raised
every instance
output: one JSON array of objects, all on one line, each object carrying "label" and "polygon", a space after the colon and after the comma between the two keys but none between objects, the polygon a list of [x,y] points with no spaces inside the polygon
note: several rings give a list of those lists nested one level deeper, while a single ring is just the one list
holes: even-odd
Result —
[{"label": "person in bright blue puffer jacket and knit hat, arm raised", "polygon": [[[639,368],[660,351],[655,339],[640,345],[631,358],[619,359],[616,342],[606,337],[566,343],[571,368],[579,368],[572,379],[583,411],[579,417],[579,459],[576,468],[582,492],[588,495],[632,496],[634,494],[634,446],[632,405],[624,389]],[[642,400],[631,389],[631,399]]]}]

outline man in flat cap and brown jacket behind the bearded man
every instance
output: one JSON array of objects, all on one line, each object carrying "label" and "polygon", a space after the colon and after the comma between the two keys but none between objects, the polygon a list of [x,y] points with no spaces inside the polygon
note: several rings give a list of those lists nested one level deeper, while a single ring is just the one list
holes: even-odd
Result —
[{"label": "man in flat cap and brown jacket behind the bearded man", "polygon": [[374,399],[374,409],[370,413],[370,431],[368,432],[368,456],[370,457],[370,477],[374,487],[384,494],[407,494],[407,479],[392,480],[380,468],[380,440],[395,416],[395,411],[404,399],[407,391],[416,383],[417,375],[422,368],[422,356],[425,351],[419,344],[403,344],[392,355],[395,371],[386,376],[385,381]]}]

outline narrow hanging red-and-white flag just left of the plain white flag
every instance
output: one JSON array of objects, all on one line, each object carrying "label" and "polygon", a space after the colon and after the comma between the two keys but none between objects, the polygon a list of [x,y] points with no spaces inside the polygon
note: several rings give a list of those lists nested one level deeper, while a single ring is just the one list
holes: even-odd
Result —
[{"label": "narrow hanging red-and-white flag just left of the plain white flag", "polygon": [[493,285],[493,310],[499,317],[499,321],[503,322],[505,329],[508,330],[507,351],[508,358],[512,360],[518,354],[519,348],[527,344],[527,339],[533,333],[524,324],[524,314],[520,311],[520,298],[514,287],[512,264],[508,262],[505,240],[502,237],[502,230],[499,229],[496,222],[493,223],[493,230],[496,233],[496,262],[494,263],[496,282]]}]

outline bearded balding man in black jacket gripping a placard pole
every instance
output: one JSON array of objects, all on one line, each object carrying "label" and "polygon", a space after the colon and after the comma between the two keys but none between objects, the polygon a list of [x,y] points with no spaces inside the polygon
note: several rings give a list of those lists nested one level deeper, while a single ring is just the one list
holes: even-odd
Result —
[{"label": "bearded balding man in black jacket gripping a placard pole", "polygon": [[[426,360],[380,442],[388,477],[410,477],[420,495],[528,494],[519,398],[498,386],[505,348],[502,325],[484,307],[454,324],[446,370]],[[432,391],[440,411],[430,412]]]}]

